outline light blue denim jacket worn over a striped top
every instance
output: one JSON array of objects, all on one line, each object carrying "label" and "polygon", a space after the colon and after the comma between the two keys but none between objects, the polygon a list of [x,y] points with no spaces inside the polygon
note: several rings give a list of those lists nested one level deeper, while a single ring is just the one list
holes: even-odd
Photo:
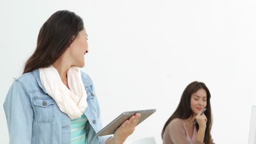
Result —
[{"label": "light blue denim jacket worn over a striped top", "polygon": [[[84,114],[86,138],[89,144],[103,144],[109,137],[96,137],[102,129],[100,107],[94,86],[88,75],[82,73],[88,95]],[[71,143],[71,119],[59,107],[42,86],[39,70],[20,76],[11,85],[4,101],[4,112],[9,131],[9,143]]]}]

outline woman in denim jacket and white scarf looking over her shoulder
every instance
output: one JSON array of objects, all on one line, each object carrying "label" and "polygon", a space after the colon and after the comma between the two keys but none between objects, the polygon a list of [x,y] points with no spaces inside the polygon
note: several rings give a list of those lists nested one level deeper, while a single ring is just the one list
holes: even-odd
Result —
[{"label": "woman in denim jacket and white scarf looking over her shoulder", "polygon": [[90,77],[79,70],[88,53],[83,20],[60,10],[41,27],[37,47],[24,73],[4,101],[9,143],[123,143],[133,133],[139,113],[114,136],[96,137],[101,113]]}]

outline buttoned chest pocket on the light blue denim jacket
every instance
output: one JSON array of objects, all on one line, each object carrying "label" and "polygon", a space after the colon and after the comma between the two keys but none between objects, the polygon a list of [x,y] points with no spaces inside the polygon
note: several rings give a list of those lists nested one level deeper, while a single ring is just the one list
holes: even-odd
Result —
[{"label": "buttoned chest pocket on the light blue denim jacket", "polygon": [[54,119],[53,99],[33,99],[35,117],[38,123],[51,123]]}]

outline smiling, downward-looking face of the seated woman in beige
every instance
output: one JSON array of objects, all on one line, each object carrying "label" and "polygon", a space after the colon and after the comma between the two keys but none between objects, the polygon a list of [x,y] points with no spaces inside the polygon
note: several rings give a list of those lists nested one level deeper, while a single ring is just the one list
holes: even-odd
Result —
[{"label": "smiling, downward-looking face of the seated woman in beige", "polygon": [[207,105],[207,94],[205,89],[200,88],[191,95],[190,106],[195,115],[201,113]]}]

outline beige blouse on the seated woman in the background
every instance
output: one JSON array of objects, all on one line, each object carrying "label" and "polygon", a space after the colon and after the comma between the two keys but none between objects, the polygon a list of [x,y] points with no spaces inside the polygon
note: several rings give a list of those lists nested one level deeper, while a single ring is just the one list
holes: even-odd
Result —
[{"label": "beige blouse on the seated woman in the background", "polygon": [[191,143],[187,135],[183,120],[175,118],[165,129],[163,144],[203,144],[198,140],[194,140]]}]

